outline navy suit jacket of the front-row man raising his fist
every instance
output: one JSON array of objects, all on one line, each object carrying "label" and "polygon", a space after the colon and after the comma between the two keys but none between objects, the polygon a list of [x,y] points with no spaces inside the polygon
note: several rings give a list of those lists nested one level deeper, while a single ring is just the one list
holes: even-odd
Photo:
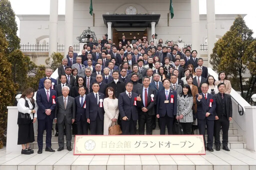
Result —
[{"label": "navy suit jacket of the front-row man raising his fist", "polygon": [[[202,99],[200,101],[197,100],[198,95],[196,95],[196,104],[197,104],[197,112],[196,117],[197,119],[204,120],[205,118],[209,121],[215,120],[215,108],[216,108],[216,102],[215,97],[209,93],[207,93],[207,100],[205,100],[204,95],[202,93],[199,93],[202,95]],[[210,100],[213,100],[211,107],[209,107]],[[205,117],[206,112],[210,113],[208,117]]]}]

